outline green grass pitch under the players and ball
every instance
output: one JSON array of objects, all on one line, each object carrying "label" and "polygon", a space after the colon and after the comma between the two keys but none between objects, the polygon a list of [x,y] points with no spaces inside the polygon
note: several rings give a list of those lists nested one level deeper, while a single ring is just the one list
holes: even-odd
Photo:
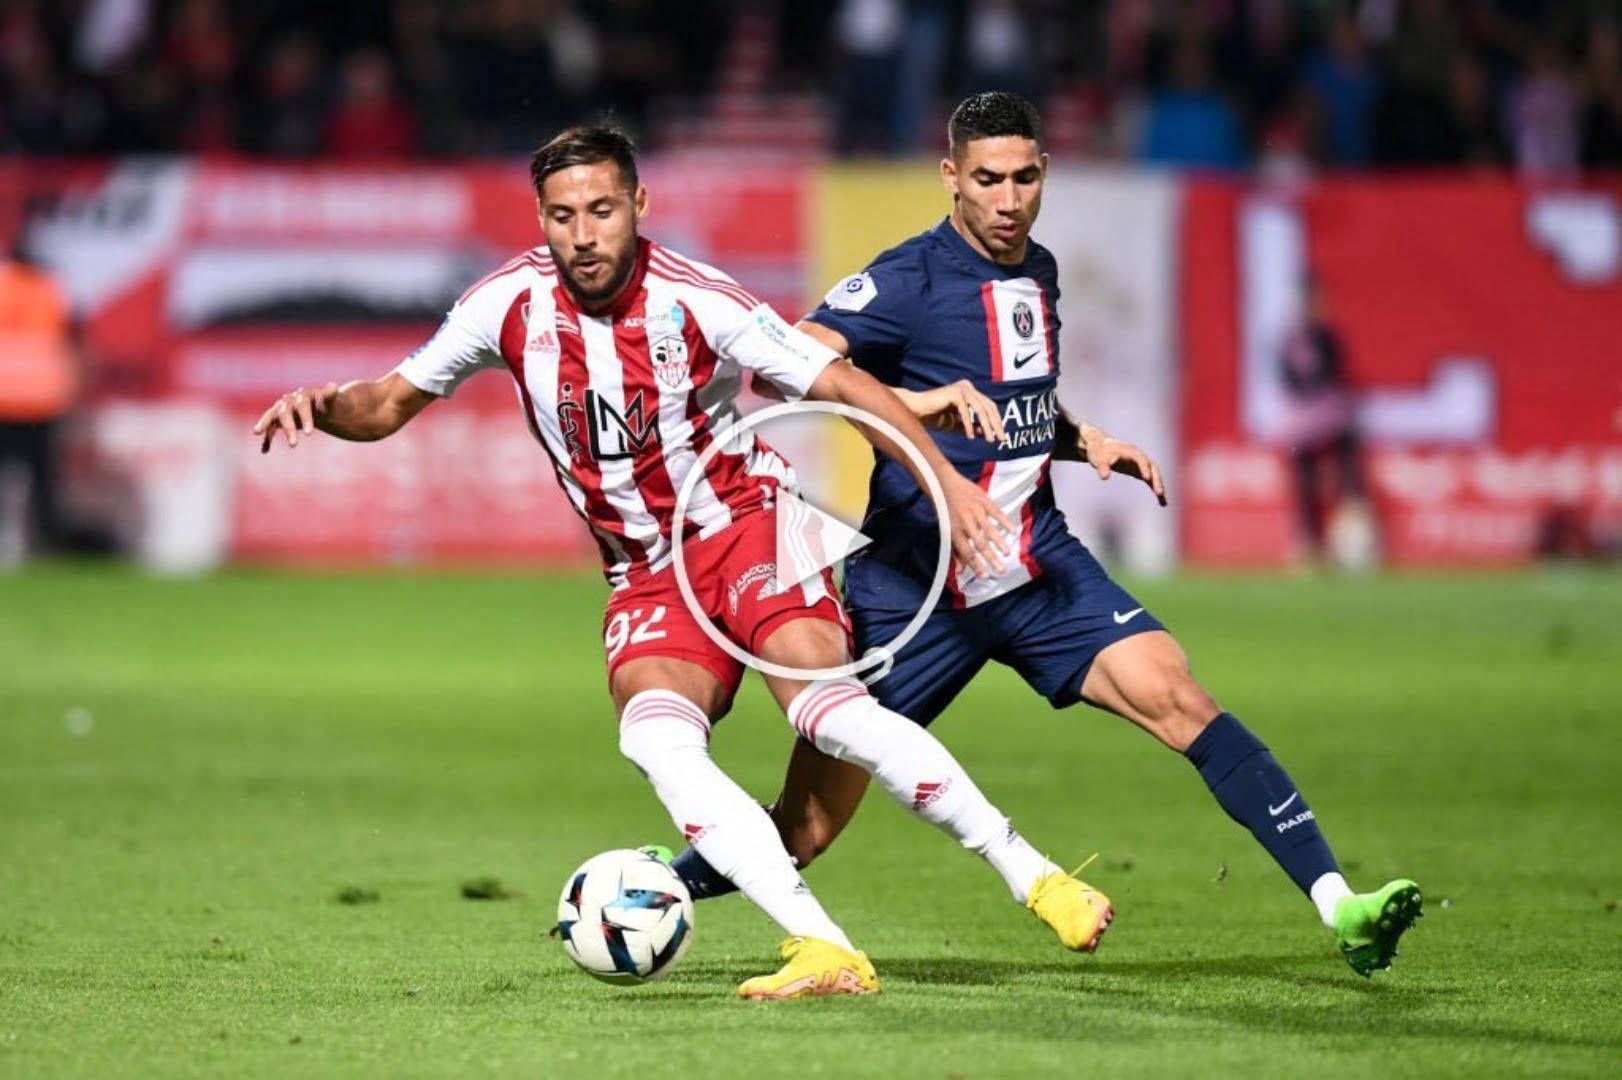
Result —
[{"label": "green grass pitch under the players and ball", "polygon": [[[884,994],[736,1001],[777,937],[738,898],[613,989],[547,941],[556,890],[675,834],[615,752],[595,579],[0,579],[0,1074],[1616,1075],[1622,579],[1139,595],[1353,882],[1426,887],[1395,971],[1186,764],[989,670],[936,731],[1056,858],[1103,851],[1098,957],[874,793],[809,881]],[[751,683],[717,756],[767,796],[788,743]]]}]

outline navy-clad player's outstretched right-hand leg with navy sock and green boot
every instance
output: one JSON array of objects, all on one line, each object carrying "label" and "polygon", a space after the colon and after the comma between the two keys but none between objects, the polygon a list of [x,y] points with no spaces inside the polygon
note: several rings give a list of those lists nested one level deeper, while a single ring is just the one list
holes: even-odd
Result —
[{"label": "navy-clad player's outstretched right-hand leg with navy sock and green boot", "polygon": [[1351,892],[1301,788],[1267,744],[1194,679],[1171,634],[1153,631],[1108,645],[1087,671],[1080,694],[1199,769],[1216,803],[1312,900],[1359,975],[1390,966],[1397,941],[1419,916],[1419,887],[1401,879],[1374,894]]}]

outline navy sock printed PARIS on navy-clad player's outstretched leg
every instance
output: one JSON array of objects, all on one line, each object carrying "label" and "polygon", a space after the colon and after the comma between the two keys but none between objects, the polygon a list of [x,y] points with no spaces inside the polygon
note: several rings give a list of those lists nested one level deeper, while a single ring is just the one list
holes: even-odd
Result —
[{"label": "navy sock printed PARIS on navy-clad player's outstretched leg", "polygon": [[1301,892],[1320,876],[1340,872],[1296,782],[1231,714],[1212,720],[1186,756],[1228,817],[1251,830]]}]

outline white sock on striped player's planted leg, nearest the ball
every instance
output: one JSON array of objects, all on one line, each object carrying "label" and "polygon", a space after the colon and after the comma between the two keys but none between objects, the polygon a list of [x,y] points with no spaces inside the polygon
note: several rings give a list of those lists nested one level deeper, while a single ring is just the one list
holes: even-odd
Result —
[{"label": "white sock on striped player's planted leg, nearest the ball", "polygon": [[855,949],[811,895],[777,827],[709,754],[709,717],[681,694],[642,691],[620,717],[620,752],[654,785],[670,819],[783,932]]}]

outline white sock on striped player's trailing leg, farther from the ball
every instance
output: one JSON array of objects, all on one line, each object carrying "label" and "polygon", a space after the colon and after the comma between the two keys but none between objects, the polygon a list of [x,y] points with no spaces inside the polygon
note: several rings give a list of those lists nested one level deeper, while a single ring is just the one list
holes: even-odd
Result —
[{"label": "white sock on striped player's trailing leg, farther from the ball", "polygon": [[1020,903],[1036,879],[1056,869],[1009,825],[939,739],[881,705],[860,681],[811,683],[788,702],[788,722],[819,751],[861,765],[892,799],[991,863]]}]

